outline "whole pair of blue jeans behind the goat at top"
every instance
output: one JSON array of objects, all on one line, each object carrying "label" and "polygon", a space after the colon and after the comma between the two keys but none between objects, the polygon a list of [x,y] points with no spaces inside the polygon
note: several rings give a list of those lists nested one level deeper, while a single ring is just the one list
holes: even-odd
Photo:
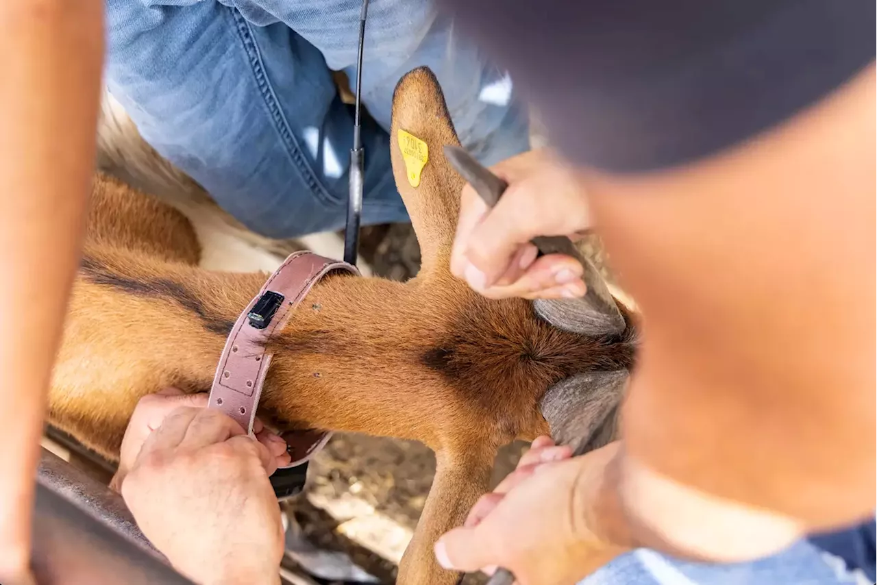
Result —
[{"label": "whole pair of blue jeans behind the goat at top", "polygon": [[[256,232],[339,229],[353,111],[330,69],[355,80],[361,0],[106,0],[105,80],[161,155]],[[372,0],[362,73],[363,224],[407,221],[393,181],[393,90],[429,66],[464,146],[485,163],[529,147],[503,70],[458,39],[430,0]],[[367,118],[367,117],[364,117]]]}]

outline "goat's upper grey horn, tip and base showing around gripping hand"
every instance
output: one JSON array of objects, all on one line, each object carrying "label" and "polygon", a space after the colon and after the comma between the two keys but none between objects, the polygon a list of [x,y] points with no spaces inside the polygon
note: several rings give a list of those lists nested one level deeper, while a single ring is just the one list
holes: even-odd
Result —
[{"label": "goat's upper grey horn, tip and base showing around gripping hand", "polygon": [[[445,146],[445,157],[484,203],[493,207],[503,196],[509,183],[484,168],[460,146]],[[586,335],[607,335],[624,331],[624,316],[612,297],[606,282],[588,258],[566,236],[538,236],[532,239],[539,256],[561,253],[579,260],[584,270],[587,292],[582,298],[538,299],[533,306],[538,315],[559,329]]]}]

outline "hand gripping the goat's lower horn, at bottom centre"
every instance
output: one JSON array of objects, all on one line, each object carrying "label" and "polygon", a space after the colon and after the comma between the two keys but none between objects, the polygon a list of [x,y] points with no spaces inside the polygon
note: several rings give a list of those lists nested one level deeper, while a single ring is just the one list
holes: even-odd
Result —
[{"label": "hand gripping the goat's lower horn, at bottom centre", "polygon": [[595,536],[588,502],[617,443],[574,459],[567,446],[541,437],[517,469],[475,503],[463,527],[436,545],[442,567],[508,568],[520,585],[572,585],[624,549]]}]

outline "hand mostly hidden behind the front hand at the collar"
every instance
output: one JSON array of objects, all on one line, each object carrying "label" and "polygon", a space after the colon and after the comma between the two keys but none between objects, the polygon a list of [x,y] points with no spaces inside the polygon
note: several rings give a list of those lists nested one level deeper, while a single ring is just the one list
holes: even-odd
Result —
[{"label": "hand mostly hidden behind the front hand at the collar", "polygon": [[[134,460],[137,459],[144,441],[155,429],[161,426],[162,421],[171,412],[182,406],[207,408],[207,401],[208,395],[206,393],[184,394],[181,389],[177,388],[163,389],[155,394],[140,398],[131,420],[128,422],[125,438],[122,439],[118,470],[110,482],[111,489],[119,491],[125,480],[125,475],[128,474]],[[286,451],[286,441],[268,431],[258,417],[253,423],[253,432],[256,439],[266,446],[268,452],[275,457],[276,467],[284,467],[292,462]]]}]

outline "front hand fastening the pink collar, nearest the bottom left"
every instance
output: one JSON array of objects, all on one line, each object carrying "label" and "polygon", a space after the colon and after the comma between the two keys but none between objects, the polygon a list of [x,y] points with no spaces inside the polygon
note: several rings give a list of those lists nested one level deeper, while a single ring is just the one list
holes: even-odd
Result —
[{"label": "front hand fastening the pink collar, nearest the bottom left", "polygon": [[279,583],[275,455],[218,410],[182,407],[151,432],[121,482],[147,539],[204,585]]}]

